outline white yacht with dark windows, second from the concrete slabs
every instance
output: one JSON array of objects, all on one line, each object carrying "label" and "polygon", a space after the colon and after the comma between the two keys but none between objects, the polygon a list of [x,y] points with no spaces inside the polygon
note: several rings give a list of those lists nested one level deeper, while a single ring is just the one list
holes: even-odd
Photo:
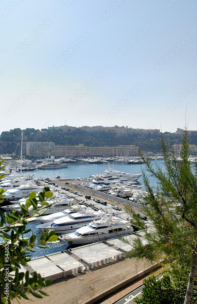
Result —
[{"label": "white yacht with dark windows, second from the concrete slabs", "polygon": [[55,219],[54,222],[44,223],[39,226],[36,226],[39,230],[48,233],[51,229],[55,230],[56,234],[64,233],[64,232],[73,232],[76,229],[88,225],[92,219],[100,219],[104,216],[106,212],[101,210],[93,211],[93,212],[75,212],[70,214],[69,216],[64,216],[60,219]]}]

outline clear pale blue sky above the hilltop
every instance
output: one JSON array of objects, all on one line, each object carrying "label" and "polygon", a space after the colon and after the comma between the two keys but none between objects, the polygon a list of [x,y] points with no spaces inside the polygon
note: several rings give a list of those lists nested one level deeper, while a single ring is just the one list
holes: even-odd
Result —
[{"label": "clear pale blue sky above the hilltop", "polygon": [[196,0],[2,0],[0,132],[175,132],[185,121],[196,130],[196,9]]}]

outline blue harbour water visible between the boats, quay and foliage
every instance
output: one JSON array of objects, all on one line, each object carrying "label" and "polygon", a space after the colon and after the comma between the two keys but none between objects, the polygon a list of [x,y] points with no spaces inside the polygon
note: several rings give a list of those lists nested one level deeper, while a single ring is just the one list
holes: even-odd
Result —
[{"label": "blue harbour water visible between the boats, quay and foliage", "polygon": [[[163,160],[160,161],[152,161],[153,168],[156,167],[156,164],[159,164],[162,166],[164,163]],[[110,164],[110,167],[112,169],[116,169],[117,171],[122,171],[126,173],[141,173],[142,168],[145,168],[144,164],[126,164],[126,163],[115,163]],[[74,178],[77,177],[88,177],[90,175],[94,175],[97,173],[104,173],[105,169],[107,169],[107,164],[88,164],[86,162],[77,162],[73,164],[69,164],[68,168],[61,168],[61,169],[51,169],[51,170],[40,170],[36,169],[35,171],[30,171],[30,174],[33,175],[34,178],[54,178],[56,176],[60,176],[61,178]],[[150,183],[153,186],[156,186],[156,180],[152,177],[150,177]],[[140,177],[138,179],[138,184],[143,185],[143,179]],[[39,223],[37,221],[34,221],[32,223],[29,223],[26,228],[31,228],[33,233],[36,234],[36,244],[39,243],[39,238],[41,235],[41,232],[39,229],[36,228]],[[27,235],[30,237],[31,232]],[[32,257],[39,257],[46,254],[52,254],[61,250],[66,250],[66,248],[69,246],[63,241],[60,241],[58,244],[49,244],[48,249],[41,249],[41,248],[35,248],[36,253],[32,253]]]}]

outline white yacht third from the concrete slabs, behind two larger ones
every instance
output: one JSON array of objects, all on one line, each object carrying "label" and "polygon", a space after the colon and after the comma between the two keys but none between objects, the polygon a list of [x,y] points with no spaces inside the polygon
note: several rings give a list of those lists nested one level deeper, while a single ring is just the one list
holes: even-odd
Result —
[{"label": "white yacht third from the concrete slabs, behind two larger ones", "polygon": [[85,210],[93,211],[92,208],[87,208],[85,205],[77,204],[77,205],[70,206],[69,208],[67,208],[61,212],[56,212],[56,213],[45,215],[45,216],[39,216],[39,217],[37,217],[36,221],[38,221],[41,224],[51,223],[55,219],[60,219],[61,217],[69,216],[70,214],[76,213],[76,212],[83,213]]}]

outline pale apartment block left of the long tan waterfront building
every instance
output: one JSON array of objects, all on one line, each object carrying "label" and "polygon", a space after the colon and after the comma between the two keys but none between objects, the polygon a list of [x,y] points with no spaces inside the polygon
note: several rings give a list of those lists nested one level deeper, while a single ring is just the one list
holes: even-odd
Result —
[{"label": "pale apartment block left of the long tan waterfront building", "polygon": [[24,142],[22,148],[22,154],[30,157],[47,157],[55,154],[55,143],[52,142]]}]

